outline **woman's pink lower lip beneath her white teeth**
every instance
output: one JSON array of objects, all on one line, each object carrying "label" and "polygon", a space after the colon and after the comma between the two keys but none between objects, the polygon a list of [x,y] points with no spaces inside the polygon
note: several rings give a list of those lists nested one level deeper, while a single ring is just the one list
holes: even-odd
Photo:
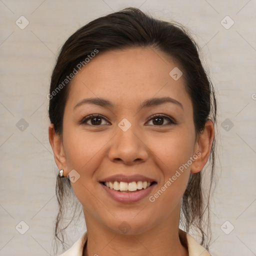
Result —
[{"label": "woman's pink lower lip beneath her white teeth", "polygon": [[120,192],[120,191],[108,188],[102,183],[100,183],[100,185],[116,201],[124,202],[124,203],[132,203],[132,202],[137,202],[145,198],[146,196],[148,196],[151,190],[153,189],[153,186],[156,185],[156,183],[148,186],[147,188],[142,188],[135,192]]}]

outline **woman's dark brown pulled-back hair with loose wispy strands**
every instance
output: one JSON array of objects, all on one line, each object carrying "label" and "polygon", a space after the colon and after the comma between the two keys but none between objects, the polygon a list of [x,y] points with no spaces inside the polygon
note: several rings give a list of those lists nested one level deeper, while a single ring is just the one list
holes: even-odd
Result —
[{"label": "woman's dark brown pulled-back hair with loose wispy strands", "polygon": [[[48,113],[50,122],[54,124],[55,132],[60,135],[62,133],[64,106],[70,87],[68,86],[70,82],[65,79],[77,68],[78,63],[84,61],[86,56],[95,49],[98,50],[98,54],[101,54],[112,49],[148,46],[166,53],[182,68],[185,89],[193,105],[193,121],[196,133],[199,134],[203,130],[208,119],[211,119],[215,124],[214,89],[202,66],[198,54],[200,49],[193,38],[180,24],[158,20],[137,8],[129,7],[92,20],[74,32],[63,44],[52,72],[49,91]],[[63,86],[57,90],[60,84]],[[53,93],[54,91],[55,93]],[[203,193],[201,171],[190,174],[182,197],[180,215],[180,224],[183,229],[188,231],[193,227],[199,231],[201,244],[206,248],[208,248],[207,240],[210,233],[209,191],[212,189],[215,163],[215,138],[209,158],[211,167],[207,171],[207,175],[210,177],[208,192]],[[63,234],[66,227],[61,228],[60,222],[65,213],[66,202],[72,193],[70,180],[67,177],[57,177],[56,195],[59,212],[55,222],[55,239],[61,241],[63,248]],[[78,200],[76,200],[76,206],[77,203]]]}]

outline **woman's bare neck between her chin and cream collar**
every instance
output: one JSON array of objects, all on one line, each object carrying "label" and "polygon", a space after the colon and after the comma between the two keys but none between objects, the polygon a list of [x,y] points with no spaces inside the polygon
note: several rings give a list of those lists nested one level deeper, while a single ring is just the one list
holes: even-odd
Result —
[{"label": "woman's bare neck between her chin and cream collar", "polygon": [[[167,217],[145,232],[137,234],[120,234],[100,224],[92,216],[84,214],[87,227],[87,244],[83,256],[148,256],[176,255],[188,256],[178,236],[177,219]],[[99,231],[100,230],[100,231]]]}]

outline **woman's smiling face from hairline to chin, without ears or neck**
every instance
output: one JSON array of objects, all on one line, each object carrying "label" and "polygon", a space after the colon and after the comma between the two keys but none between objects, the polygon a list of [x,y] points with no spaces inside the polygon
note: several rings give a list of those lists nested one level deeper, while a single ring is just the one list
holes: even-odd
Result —
[{"label": "woman's smiling face from hairline to chin, without ears or neck", "polygon": [[[75,75],[64,109],[61,167],[64,175],[72,170],[85,219],[116,232],[128,225],[135,234],[179,218],[198,150],[180,74],[165,53],[132,48],[99,52]],[[91,114],[99,116],[86,118]],[[114,188],[124,190],[104,181],[119,181]],[[144,181],[150,186],[141,188]]]}]

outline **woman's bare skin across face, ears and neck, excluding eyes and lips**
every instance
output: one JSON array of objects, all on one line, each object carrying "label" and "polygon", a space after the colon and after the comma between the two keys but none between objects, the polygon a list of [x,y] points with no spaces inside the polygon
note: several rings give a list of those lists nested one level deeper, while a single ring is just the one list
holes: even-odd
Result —
[{"label": "woman's bare skin across face, ears and neck, excluding eyes and lips", "polygon": [[[178,223],[182,194],[189,173],[205,165],[213,139],[207,121],[200,135],[193,123],[192,102],[181,76],[169,72],[178,66],[165,53],[151,48],[130,48],[98,54],[72,80],[64,109],[63,132],[49,125],[49,141],[64,176],[75,169],[80,177],[71,182],[83,206],[88,242],[83,256],[94,255],[188,255],[180,243]],[[181,68],[179,67],[181,70]],[[169,96],[182,104],[165,102],[138,110],[151,97]],[[102,97],[113,108],[83,104],[82,99]],[[100,125],[80,124],[89,114],[100,114]],[[153,114],[163,114],[176,124],[158,124]],[[126,118],[131,127],[118,123]],[[107,125],[107,123],[110,123]],[[200,151],[200,156],[154,201],[117,202],[102,189],[99,179],[116,173],[142,174],[157,181],[153,195],[180,165]],[[118,226],[126,221],[130,230]],[[99,231],[100,230],[100,231]]]}]

